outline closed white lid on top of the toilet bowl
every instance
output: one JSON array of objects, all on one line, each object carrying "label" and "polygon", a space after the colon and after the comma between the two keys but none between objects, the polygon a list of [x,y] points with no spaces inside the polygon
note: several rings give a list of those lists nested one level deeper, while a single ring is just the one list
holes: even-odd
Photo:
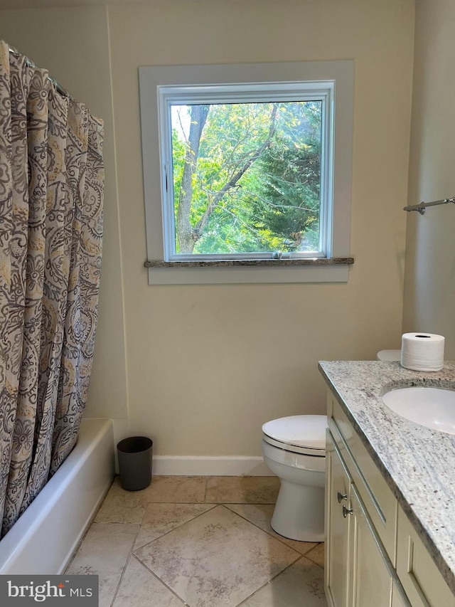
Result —
[{"label": "closed white lid on top of the toilet bowl", "polygon": [[325,415],[294,415],[267,421],[262,426],[262,432],[285,445],[325,451],[326,428]]}]

